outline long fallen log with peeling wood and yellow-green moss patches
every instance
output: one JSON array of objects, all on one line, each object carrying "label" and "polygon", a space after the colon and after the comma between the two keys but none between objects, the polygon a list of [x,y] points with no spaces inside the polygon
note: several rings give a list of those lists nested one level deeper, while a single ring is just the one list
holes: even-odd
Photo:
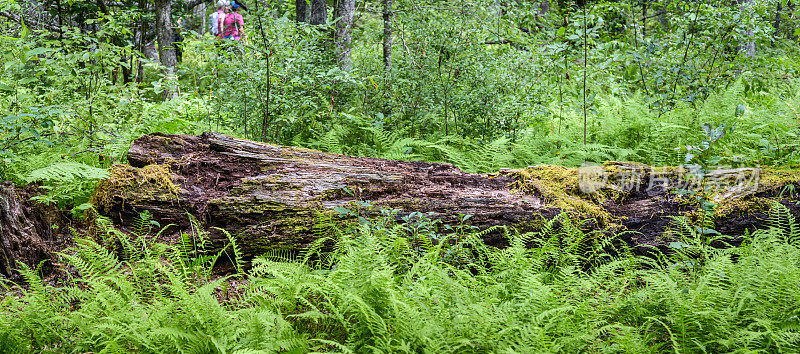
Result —
[{"label": "long fallen log with peeling wood and yellow-green moss patches", "polygon": [[[248,256],[303,247],[316,238],[321,217],[363,209],[362,202],[372,205],[365,213],[423,212],[441,225],[457,225],[459,214],[468,214],[472,226],[522,232],[567,212],[587,229],[637,231],[625,241],[655,246],[665,243],[672,216],[697,215],[700,189],[706,190],[700,199],[718,204],[717,230],[729,235],[760,224],[772,200],[798,212],[794,194],[778,197],[797,184],[793,171],[717,170],[695,185],[682,168],[625,162],[470,174],[445,163],[351,157],[216,133],[147,135],[134,142],[128,161],[98,185],[94,203],[101,214],[131,229],[138,213],[149,210],[162,225],[176,225],[165,238],[189,229],[193,217],[212,240],[225,239],[220,230],[236,236]],[[736,183],[713,189],[712,180]],[[487,242],[505,239],[490,234]]]}]

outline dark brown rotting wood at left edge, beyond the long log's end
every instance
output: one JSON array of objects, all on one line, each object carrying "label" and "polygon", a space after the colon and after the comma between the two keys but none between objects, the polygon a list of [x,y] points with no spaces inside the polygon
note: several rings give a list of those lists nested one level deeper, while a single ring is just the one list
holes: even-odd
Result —
[{"label": "dark brown rotting wood at left edge, beyond the long log's end", "polygon": [[[41,261],[53,259],[53,252],[70,243],[69,221],[55,208],[30,200],[40,191],[11,182],[0,183],[0,276],[21,280],[23,265],[36,269]],[[53,264],[42,264],[49,273]]]}]

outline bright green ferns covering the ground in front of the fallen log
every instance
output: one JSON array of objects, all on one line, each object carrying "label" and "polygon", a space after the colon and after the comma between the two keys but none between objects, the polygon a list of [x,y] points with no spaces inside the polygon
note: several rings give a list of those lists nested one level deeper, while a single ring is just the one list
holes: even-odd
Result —
[{"label": "bright green ferns covering the ground in front of the fallen log", "polygon": [[[7,352],[790,352],[800,350],[800,233],[782,205],[735,248],[681,227],[674,252],[635,256],[559,217],[539,233],[467,226],[436,232],[424,215],[386,214],[327,234],[299,255],[244,270],[198,228],[65,252],[63,287],[22,269],[28,287],[0,302]],[[489,247],[486,232],[510,246]],[[231,243],[233,242],[233,243]],[[121,252],[112,252],[109,245]],[[220,250],[221,249],[221,250]],[[212,250],[214,250],[212,252]],[[206,252],[202,252],[206,251]],[[229,259],[233,274],[211,275]]]}]

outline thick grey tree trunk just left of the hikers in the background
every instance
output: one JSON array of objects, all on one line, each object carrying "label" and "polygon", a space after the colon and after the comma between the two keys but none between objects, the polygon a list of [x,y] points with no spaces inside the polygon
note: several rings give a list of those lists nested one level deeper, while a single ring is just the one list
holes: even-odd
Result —
[{"label": "thick grey tree trunk just left of the hikers in the background", "polygon": [[175,53],[175,33],[172,30],[172,0],[156,0],[156,31],[158,31],[158,58],[163,67],[166,88],[165,100],[178,97],[178,59]]}]

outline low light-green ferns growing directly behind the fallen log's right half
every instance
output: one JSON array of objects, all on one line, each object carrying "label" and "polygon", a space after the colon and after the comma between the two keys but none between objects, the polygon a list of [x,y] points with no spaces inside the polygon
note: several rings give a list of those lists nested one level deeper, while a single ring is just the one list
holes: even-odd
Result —
[{"label": "low light-green ferns growing directly behind the fallen log's right half", "polygon": [[[735,126],[719,147],[720,166],[785,166],[800,163],[797,134],[800,92],[748,95],[745,80],[711,95],[700,104],[660,112],[642,105],[641,97],[598,97],[590,142],[582,144],[582,117],[574,112],[559,121],[519,132],[516,138],[456,135],[409,137],[368,116],[342,113],[320,137],[297,137],[293,145],[329,152],[395,160],[452,163],[466,172],[497,172],[533,165],[579,166],[587,161],[634,161],[653,166],[684,162],[685,150],[705,137],[703,124]],[[552,108],[555,110],[558,107]],[[738,110],[738,111],[737,111]],[[561,126],[564,125],[562,128]]]}]

